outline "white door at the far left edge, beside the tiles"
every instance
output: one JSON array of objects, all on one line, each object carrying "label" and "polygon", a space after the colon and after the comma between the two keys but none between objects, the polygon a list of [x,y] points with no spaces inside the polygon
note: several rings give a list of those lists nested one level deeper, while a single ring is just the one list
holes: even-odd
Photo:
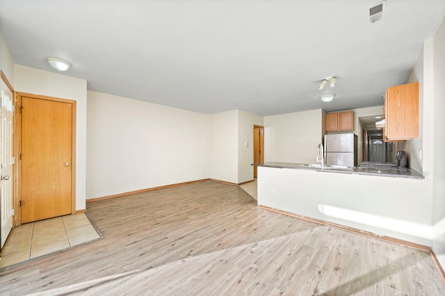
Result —
[{"label": "white door at the far left edge, beside the tiles", "polygon": [[1,87],[0,115],[0,217],[1,247],[13,229],[13,93]]}]

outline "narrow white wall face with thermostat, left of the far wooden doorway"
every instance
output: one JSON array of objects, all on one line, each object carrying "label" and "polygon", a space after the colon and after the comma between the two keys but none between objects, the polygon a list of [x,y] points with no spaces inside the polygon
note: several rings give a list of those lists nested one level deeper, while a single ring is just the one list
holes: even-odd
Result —
[{"label": "narrow white wall face with thermostat, left of the far wooden doorway", "polygon": [[238,184],[253,180],[253,125],[263,124],[263,116],[238,111]]}]

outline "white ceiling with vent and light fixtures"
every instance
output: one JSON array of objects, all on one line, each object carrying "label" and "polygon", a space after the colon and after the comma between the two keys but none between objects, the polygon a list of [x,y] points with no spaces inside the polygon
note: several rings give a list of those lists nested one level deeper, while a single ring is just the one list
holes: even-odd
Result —
[{"label": "white ceiling with vent and light fixtures", "polygon": [[[444,0],[387,0],[370,24],[378,2],[0,0],[0,30],[15,63],[63,58],[97,92],[208,114],[330,112],[382,105],[445,16]],[[318,90],[327,76],[337,87]]]}]

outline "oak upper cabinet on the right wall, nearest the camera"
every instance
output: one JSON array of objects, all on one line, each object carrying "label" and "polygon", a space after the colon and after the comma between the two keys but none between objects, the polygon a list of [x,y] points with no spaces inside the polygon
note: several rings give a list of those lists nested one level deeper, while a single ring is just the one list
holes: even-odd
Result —
[{"label": "oak upper cabinet on the right wall, nearest the camera", "polygon": [[385,94],[385,141],[419,137],[419,82],[388,87]]}]

